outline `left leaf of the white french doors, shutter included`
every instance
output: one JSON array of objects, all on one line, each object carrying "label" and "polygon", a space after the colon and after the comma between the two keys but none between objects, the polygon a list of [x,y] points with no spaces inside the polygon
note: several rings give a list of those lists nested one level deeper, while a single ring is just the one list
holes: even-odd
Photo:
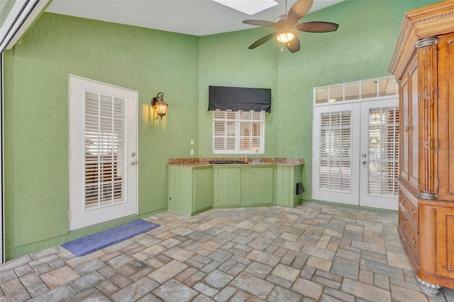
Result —
[{"label": "left leaf of the white french doors, shutter included", "polygon": [[314,108],[312,199],[358,205],[360,104]]}]

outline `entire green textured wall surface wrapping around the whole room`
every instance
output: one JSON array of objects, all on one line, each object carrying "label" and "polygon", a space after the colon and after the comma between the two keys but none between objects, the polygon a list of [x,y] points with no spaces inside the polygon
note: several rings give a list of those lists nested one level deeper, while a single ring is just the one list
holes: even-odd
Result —
[{"label": "entire green textured wall surface wrapping around the whole room", "polygon": [[[436,1],[345,1],[304,21],[333,21],[336,33],[299,33],[301,50],[271,40],[271,28],[195,37],[44,13],[4,53],[6,257],[58,245],[135,217],[68,233],[67,75],[138,91],[139,216],[167,207],[172,157],[213,156],[208,86],[272,89],[265,156],[304,157],[311,198],[312,89],[387,75],[405,11]],[[149,116],[162,91],[162,121]],[[190,145],[194,138],[195,145]]]}]

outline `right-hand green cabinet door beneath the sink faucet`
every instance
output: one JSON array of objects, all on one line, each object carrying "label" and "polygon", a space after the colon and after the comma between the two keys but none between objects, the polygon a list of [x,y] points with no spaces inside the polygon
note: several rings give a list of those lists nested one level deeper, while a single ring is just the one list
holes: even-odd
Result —
[{"label": "right-hand green cabinet door beneath the sink faucet", "polygon": [[253,167],[251,169],[249,195],[251,206],[267,206],[273,203],[275,183],[273,176],[273,167]]}]

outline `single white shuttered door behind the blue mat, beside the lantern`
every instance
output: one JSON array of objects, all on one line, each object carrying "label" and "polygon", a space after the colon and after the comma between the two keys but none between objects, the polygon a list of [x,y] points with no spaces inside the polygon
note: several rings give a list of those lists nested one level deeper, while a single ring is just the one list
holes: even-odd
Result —
[{"label": "single white shuttered door behind the blue mat, beside the lantern", "polygon": [[137,213],[137,92],[70,76],[70,230]]}]

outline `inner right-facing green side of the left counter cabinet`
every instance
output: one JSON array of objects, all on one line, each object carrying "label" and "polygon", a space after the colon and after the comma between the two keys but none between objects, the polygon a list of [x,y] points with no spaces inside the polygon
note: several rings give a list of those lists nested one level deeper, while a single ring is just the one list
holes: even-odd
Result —
[{"label": "inner right-facing green side of the left counter cabinet", "polygon": [[192,177],[194,178],[192,213],[198,213],[213,206],[213,169],[194,168]]}]

